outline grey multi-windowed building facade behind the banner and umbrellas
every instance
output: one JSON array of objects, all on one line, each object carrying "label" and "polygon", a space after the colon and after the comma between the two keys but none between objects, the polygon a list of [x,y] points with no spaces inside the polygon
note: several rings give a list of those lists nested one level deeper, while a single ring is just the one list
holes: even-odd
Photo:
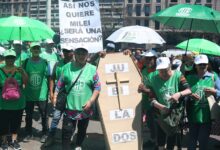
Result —
[{"label": "grey multi-windowed building facade behind the banner and umbrellas", "polygon": [[[79,0],[78,0],[79,1]],[[103,31],[106,34],[128,25],[163,29],[149,16],[167,7],[191,3],[220,10],[220,0],[99,0]],[[0,17],[11,15],[39,19],[54,30],[59,30],[58,0],[0,0]]]}]

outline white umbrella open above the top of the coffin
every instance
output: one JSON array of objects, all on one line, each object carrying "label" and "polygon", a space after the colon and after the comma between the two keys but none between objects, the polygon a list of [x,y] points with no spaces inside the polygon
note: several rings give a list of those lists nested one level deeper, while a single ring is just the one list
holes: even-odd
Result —
[{"label": "white umbrella open above the top of the coffin", "polygon": [[114,43],[163,44],[164,39],[153,29],[143,26],[126,26],[113,32],[106,40]]}]

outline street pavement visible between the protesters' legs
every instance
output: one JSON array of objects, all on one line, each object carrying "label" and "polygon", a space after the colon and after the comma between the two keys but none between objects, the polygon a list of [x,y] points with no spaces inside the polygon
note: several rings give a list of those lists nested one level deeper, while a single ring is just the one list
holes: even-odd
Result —
[{"label": "street pavement visible between the protesters' legs", "polygon": [[[36,110],[35,110],[36,111]],[[51,117],[49,117],[49,123],[51,122]],[[22,138],[20,137],[19,141],[22,147],[22,150],[61,150],[61,124],[62,120],[59,123],[58,130],[55,136],[55,143],[51,145],[50,147],[43,147],[42,143],[40,143],[40,131],[41,131],[41,120],[40,116],[37,112],[34,113],[34,122],[33,122],[33,129],[34,129],[34,138],[30,140],[29,142],[24,142]],[[22,122],[22,128],[21,128],[21,135],[24,133],[24,117]],[[149,130],[147,128],[144,128],[143,130],[143,140],[144,142],[147,141],[149,137]],[[187,143],[187,133],[184,134],[183,137],[183,150],[186,150],[186,143]],[[73,138],[74,141],[74,138]],[[220,145],[220,136],[211,136],[209,141],[209,148],[208,150],[219,150],[220,147],[215,147],[216,144]],[[74,144],[73,144],[74,147]],[[154,148],[150,145],[145,145],[143,150],[153,150]],[[177,148],[175,148],[177,149]],[[99,121],[90,121],[88,129],[87,129],[87,135],[86,139],[83,142],[83,150],[106,150],[105,148],[105,141],[104,141],[104,135],[102,132],[101,123]],[[129,147],[126,150],[130,150]]]}]

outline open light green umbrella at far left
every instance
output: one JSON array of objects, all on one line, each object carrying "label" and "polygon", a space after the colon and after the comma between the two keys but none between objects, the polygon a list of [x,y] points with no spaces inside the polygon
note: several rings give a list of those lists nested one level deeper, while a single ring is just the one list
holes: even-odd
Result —
[{"label": "open light green umbrella at far left", "polygon": [[52,39],[54,31],[39,20],[10,16],[0,19],[1,40],[39,41]]}]

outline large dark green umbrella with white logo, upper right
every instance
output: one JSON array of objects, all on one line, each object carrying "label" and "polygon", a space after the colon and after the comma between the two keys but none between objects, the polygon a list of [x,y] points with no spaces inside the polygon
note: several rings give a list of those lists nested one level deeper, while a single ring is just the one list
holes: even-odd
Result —
[{"label": "large dark green umbrella with white logo, upper right", "polygon": [[174,5],[151,18],[176,29],[220,33],[220,12],[202,5]]}]

